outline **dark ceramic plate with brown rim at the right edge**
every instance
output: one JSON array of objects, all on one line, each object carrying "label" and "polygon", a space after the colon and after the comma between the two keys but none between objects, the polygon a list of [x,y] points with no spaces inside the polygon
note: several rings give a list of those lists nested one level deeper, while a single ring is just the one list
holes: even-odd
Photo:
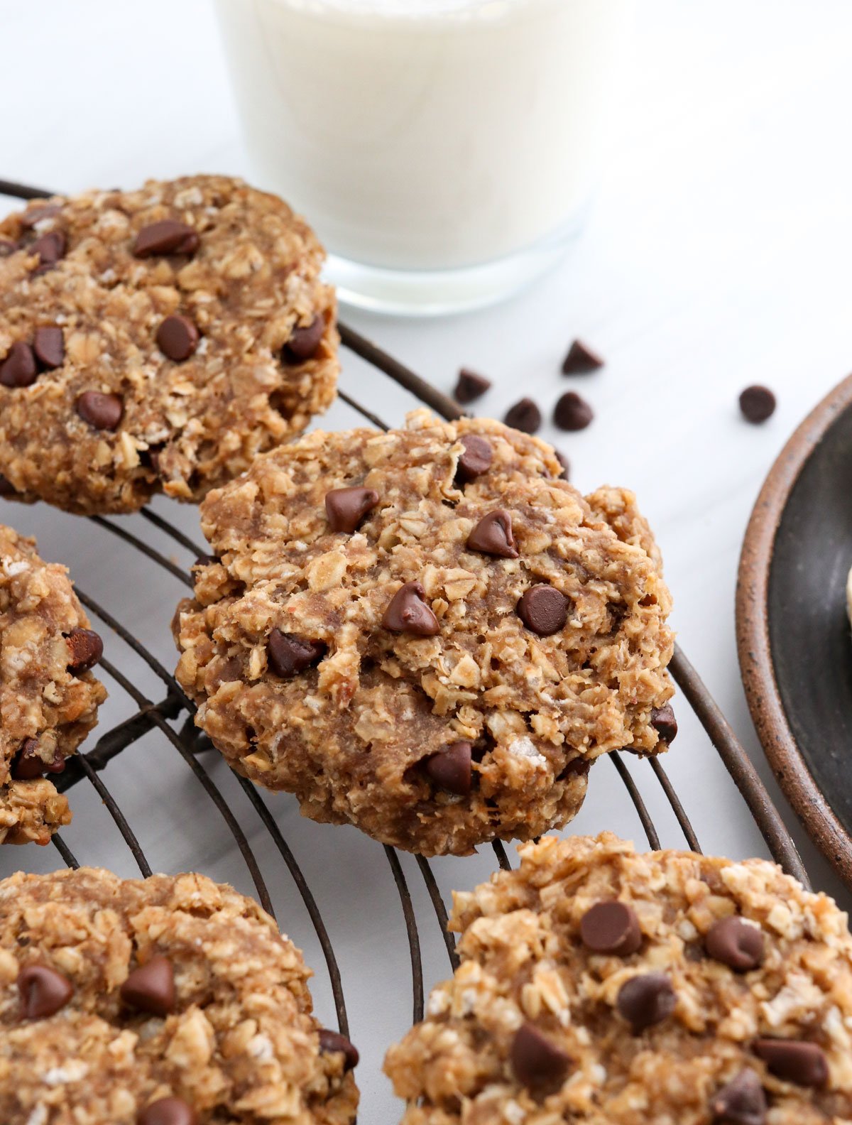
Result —
[{"label": "dark ceramic plate with brown rim at the right edge", "polygon": [[788,441],[752,512],[736,629],[749,708],[806,829],[852,885],[852,376]]}]

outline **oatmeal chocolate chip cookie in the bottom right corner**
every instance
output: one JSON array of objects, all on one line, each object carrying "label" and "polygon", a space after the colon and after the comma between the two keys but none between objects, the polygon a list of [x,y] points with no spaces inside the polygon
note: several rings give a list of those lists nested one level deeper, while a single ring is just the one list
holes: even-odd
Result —
[{"label": "oatmeal chocolate chip cookie in the bottom right corner", "polygon": [[455,896],[461,965],[388,1053],[404,1125],[842,1125],[846,916],[762,860],[546,838]]}]

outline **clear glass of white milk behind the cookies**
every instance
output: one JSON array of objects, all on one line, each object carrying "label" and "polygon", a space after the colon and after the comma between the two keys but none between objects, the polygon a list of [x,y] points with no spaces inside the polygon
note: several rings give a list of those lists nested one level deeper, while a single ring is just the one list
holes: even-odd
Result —
[{"label": "clear glass of white milk behind the cookies", "polygon": [[551,266],[599,172],[634,0],[216,0],[260,187],[341,298],[486,305]]}]

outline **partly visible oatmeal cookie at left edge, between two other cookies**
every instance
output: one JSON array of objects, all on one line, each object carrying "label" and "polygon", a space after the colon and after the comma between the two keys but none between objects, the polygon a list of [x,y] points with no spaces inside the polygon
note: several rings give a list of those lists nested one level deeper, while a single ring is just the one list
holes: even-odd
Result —
[{"label": "partly visible oatmeal cookie at left edge, between two other cookies", "polygon": [[103,646],[67,570],[0,524],[0,843],[47,844],[71,820],[61,773],[107,698],[89,670]]}]

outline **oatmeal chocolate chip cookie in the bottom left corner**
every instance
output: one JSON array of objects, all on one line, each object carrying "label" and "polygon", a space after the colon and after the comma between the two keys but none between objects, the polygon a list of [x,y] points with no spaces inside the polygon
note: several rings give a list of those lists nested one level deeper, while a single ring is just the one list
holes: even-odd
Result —
[{"label": "oatmeal chocolate chip cookie in the bottom left corner", "polygon": [[3,1125],[350,1125],[299,950],[203,875],[0,882]]}]

